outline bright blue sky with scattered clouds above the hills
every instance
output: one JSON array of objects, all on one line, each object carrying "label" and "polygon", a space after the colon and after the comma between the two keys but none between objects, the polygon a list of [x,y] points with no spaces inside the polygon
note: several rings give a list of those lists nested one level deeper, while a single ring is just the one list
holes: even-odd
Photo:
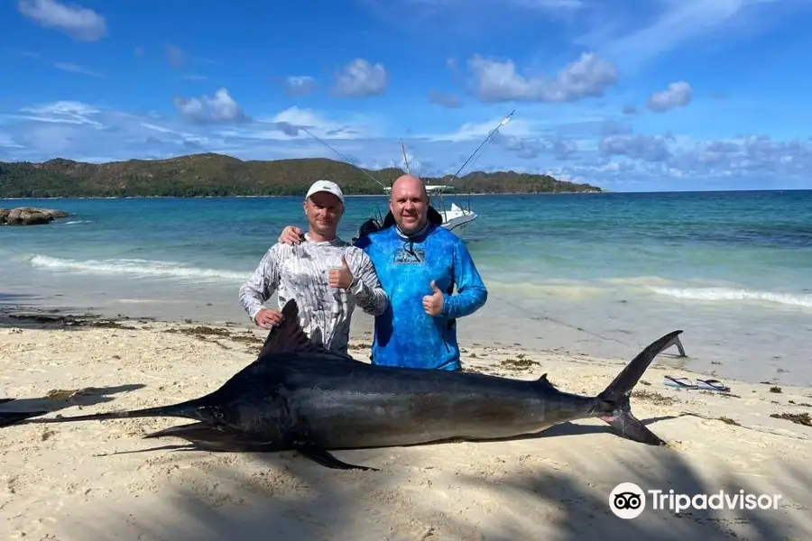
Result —
[{"label": "bright blue sky with scattered clouds above the hills", "polygon": [[[286,5],[287,4],[287,5]],[[812,188],[807,0],[8,0],[0,160],[340,159]],[[300,128],[305,128],[306,133]]]}]

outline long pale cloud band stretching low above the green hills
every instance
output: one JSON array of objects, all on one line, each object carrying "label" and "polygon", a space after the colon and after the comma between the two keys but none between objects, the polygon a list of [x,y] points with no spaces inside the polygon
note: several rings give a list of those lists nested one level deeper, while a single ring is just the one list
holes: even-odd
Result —
[{"label": "long pale cloud band stretching low above the green hills", "polygon": [[[404,137],[412,170],[424,177],[457,170],[501,120],[466,123],[455,133]],[[747,182],[764,188],[778,181],[785,181],[784,187],[791,183],[809,187],[812,141],[776,141],[766,135],[694,141],[681,134],[633,133],[616,122],[583,124],[577,133],[567,133],[565,124],[544,124],[540,129],[542,120],[547,123],[549,118],[513,118],[462,174],[550,172],[610,189],[736,188]],[[165,159],[198,152],[226,153],[242,160],[342,160],[300,129],[305,127],[362,166],[402,167],[398,138],[385,136],[379,125],[361,115],[341,118],[290,107],[271,115],[246,115],[243,122],[226,128],[62,100],[0,114],[0,160]]]}]

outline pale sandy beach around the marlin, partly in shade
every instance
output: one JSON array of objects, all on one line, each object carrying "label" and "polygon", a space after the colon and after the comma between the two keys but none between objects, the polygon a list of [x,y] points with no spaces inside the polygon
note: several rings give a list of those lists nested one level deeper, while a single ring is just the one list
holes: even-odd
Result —
[{"label": "pale sandy beach around the marlin, partly in shade", "polygon": [[[0,397],[66,415],[190,399],[251,362],[262,338],[245,326],[6,318]],[[368,346],[359,336],[353,353],[366,360]],[[466,346],[464,362],[521,379],[548,372],[561,389],[595,393],[636,353],[609,360],[480,344]],[[632,396],[637,417],[669,441],[660,448],[615,436],[600,420],[579,421],[511,442],[337,452],[382,469],[339,472],[293,452],[208,454],[141,439],[178,419],[5,427],[0,537],[812,539],[812,426],[802,424],[812,414],[812,389],[725,381],[729,395],[674,390],[663,385],[665,374],[697,374],[669,367],[668,357],[655,361]],[[689,496],[744,491],[781,499],[778,509],[646,509],[623,520],[608,499],[624,481]]]}]

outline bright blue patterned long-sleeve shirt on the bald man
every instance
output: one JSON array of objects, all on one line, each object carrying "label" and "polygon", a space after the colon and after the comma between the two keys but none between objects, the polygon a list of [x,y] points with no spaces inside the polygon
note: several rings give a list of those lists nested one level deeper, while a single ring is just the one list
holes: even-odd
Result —
[{"label": "bright blue patterned long-sleeve shirt on the bald man", "polygon": [[[459,370],[457,318],[473,314],[488,298],[465,243],[448,229],[431,224],[411,238],[397,226],[361,237],[356,245],[373,261],[389,306],[375,316],[372,362],[388,366]],[[423,309],[433,293],[443,292],[438,316]],[[457,295],[452,295],[454,287]]]}]

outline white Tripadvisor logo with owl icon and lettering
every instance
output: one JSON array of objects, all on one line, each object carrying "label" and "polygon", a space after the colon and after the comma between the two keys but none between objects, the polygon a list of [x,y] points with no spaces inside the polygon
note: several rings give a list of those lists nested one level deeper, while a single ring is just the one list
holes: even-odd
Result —
[{"label": "white Tripadvisor logo with owl icon and lettering", "polygon": [[686,509],[778,509],[780,499],[780,494],[751,494],[745,491],[718,491],[689,496],[673,490],[643,491],[633,482],[622,482],[609,494],[609,509],[616,517],[629,519],[640,517],[648,503],[651,503],[651,509],[680,513]]}]

